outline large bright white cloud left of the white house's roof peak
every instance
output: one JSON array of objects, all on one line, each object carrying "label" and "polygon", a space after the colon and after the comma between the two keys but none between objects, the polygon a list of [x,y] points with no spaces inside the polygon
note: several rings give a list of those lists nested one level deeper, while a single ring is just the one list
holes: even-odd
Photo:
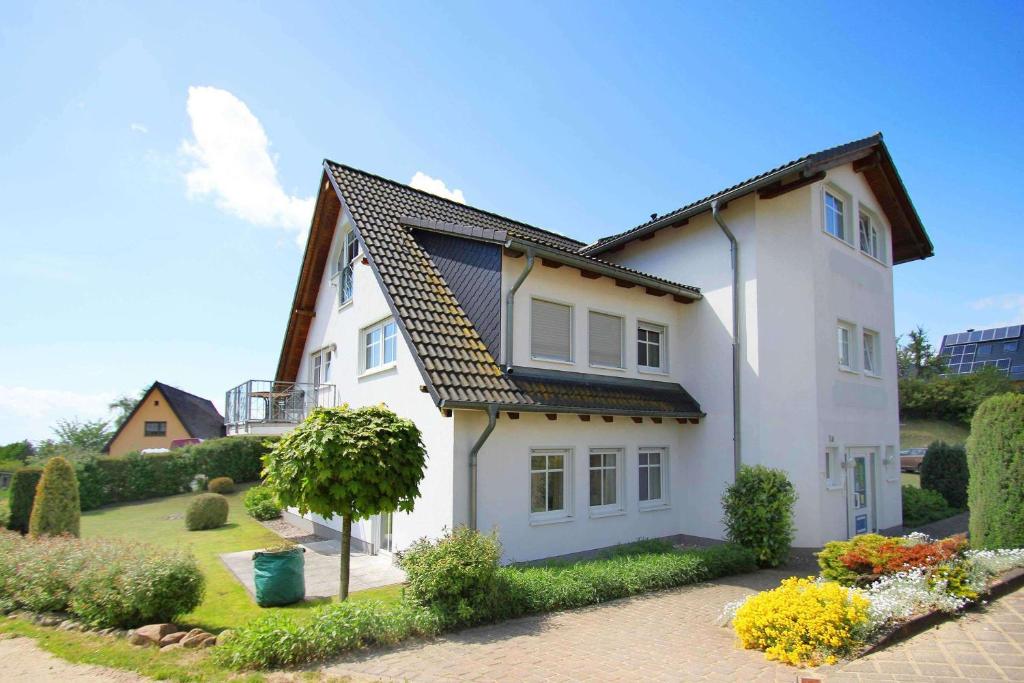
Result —
[{"label": "large bright white cloud left of the white house's roof peak", "polygon": [[227,90],[188,88],[193,140],[181,151],[193,162],[185,173],[189,199],[212,197],[239,218],[295,232],[302,244],[313,213],[312,197],[293,197],[278,179],[270,141],[246,103]]}]

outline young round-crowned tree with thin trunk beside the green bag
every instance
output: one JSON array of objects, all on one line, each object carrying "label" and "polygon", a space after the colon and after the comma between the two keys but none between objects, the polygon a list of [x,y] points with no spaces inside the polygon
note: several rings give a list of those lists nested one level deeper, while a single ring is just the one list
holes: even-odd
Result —
[{"label": "young round-crowned tree with thin trunk beside the green bag", "polygon": [[300,514],[341,515],[342,600],[352,520],[412,512],[426,466],[420,430],[384,405],[316,409],[263,458],[266,484]]}]

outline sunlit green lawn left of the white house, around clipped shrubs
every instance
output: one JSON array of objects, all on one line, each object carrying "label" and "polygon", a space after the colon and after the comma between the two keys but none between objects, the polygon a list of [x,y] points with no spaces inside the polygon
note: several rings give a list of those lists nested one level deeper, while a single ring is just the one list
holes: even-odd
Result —
[{"label": "sunlit green lawn left of the white house, around clipped shrubs", "polygon": [[[242,584],[220,561],[219,555],[273,545],[281,542],[281,537],[246,514],[242,505],[243,492],[227,496],[230,512],[225,526],[189,531],[185,529],[184,511],[191,496],[172,496],[84,513],[82,538],[130,539],[167,548],[190,550],[206,577],[206,595],[194,612],[178,620],[182,626],[195,626],[216,633],[271,612],[289,612],[301,618],[311,607],[326,602],[302,602],[289,607],[257,606]],[[398,600],[400,593],[400,587],[388,586],[353,593],[349,599],[392,602]]]}]

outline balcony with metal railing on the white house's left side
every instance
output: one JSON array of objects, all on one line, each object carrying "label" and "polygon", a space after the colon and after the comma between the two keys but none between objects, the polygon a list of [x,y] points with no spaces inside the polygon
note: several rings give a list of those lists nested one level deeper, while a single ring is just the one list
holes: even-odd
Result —
[{"label": "balcony with metal railing on the white house's left side", "polygon": [[249,380],[224,395],[224,427],[233,434],[282,434],[314,408],[332,408],[333,384]]}]

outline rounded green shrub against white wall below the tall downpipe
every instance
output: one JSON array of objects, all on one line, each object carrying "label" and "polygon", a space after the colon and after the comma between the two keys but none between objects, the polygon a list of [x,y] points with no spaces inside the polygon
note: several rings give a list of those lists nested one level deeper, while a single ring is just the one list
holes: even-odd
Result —
[{"label": "rounded green shrub against white wall below the tall downpipe", "polygon": [[762,566],[778,566],[790,557],[796,502],[797,492],[782,470],[740,467],[722,497],[729,540],[754,550]]}]

